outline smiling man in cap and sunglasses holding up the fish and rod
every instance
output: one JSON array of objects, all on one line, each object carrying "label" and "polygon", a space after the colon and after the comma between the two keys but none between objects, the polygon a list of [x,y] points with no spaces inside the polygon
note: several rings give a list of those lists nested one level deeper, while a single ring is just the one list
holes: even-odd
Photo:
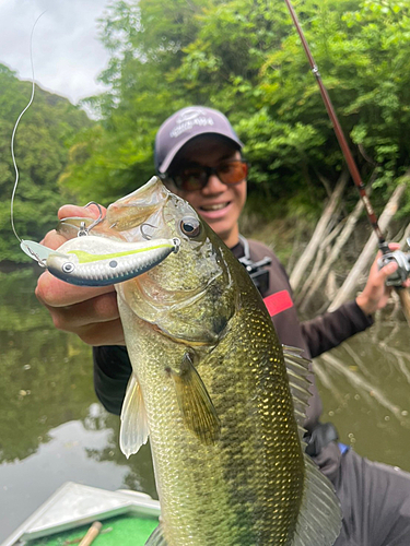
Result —
[{"label": "smiling man in cap and sunglasses holding up the fish and rod", "polygon": [[[238,218],[246,201],[247,164],[243,144],[229,120],[206,107],[177,111],[160,128],[155,168],[164,183],[186,199],[238,258],[257,262],[269,258],[269,282],[262,288],[280,341],[302,347],[315,357],[372,324],[371,314],[389,296],[385,281],[397,269],[378,270],[375,262],[366,286],[353,301],[332,313],[300,323],[288,275],[265,245],[239,236]],[[70,205],[59,216],[85,215]],[[45,245],[57,248],[63,238],[47,234]],[[248,247],[248,248],[247,248]],[[393,249],[397,246],[393,246]],[[119,414],[131,371],[116,296],[112,288],[68,286],[44,273],[36,295],[49,309],[57,328],[77,333],[94,346],[94,383],[98,399]],[[330,424],[320,424],[321,403],[313,383],[307,408],[308,453],[333,483],[343,509],[343,527],[337,546],[405,546],[410,544],[410,476],[371,463],[337,442]]]}]

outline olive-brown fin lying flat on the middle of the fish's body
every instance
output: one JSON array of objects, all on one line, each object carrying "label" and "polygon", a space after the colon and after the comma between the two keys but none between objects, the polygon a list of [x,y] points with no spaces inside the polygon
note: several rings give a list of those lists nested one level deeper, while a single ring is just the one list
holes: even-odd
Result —
[{"label": "olive-brown fin lying flat on the middle of the fish's body", "polygon": [[220,436],[221,424],[207,388],[188,353],[184,356],[179,372],[171,371],[171,375],[186,427],[202,443],[214,443]]}]

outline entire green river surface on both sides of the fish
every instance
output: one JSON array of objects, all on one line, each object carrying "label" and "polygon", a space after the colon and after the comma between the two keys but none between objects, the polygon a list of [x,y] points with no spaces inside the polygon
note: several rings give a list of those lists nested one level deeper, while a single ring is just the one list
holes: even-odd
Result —
[{"label": "entire green river surface on both sides of the fish", "polygon": [[[149,447],[122,455],[119,418],[94,394],[91,348],[52,327],[35,282],[32,270],[0,273],[0,543],[66,482],[156,498]],[[361,455],[407,471],[409,333],[384,317],[315,361],[323,420]]]}]

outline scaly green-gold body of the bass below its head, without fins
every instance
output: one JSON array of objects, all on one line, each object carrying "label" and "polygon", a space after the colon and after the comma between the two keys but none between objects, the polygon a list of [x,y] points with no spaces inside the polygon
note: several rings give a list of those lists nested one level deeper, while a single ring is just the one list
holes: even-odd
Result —
[{"label": "scaly green-gold body of the bass below its head, without fins", "polygon": [[168,339],[134,321],[131,314],[124,322],[130,336],[140,333],[138,376],[169,544],[288,544],[304,466],[280,345],[265,310],[244,304],[218,347],[197,349],[198,372],[221,419],[214,446],[186,429],[173,384],[164,387],[161,355],[177,369],[186,346],[173,346],[169,360]]}]

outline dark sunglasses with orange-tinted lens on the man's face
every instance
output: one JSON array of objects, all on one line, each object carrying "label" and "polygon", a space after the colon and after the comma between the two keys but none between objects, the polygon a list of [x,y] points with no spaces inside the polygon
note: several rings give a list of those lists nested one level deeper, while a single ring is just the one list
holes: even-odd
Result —
[{"label": "dark sunglasses with orange-tinted lens on the man's face", "polygon": [[166,178],[173,180],[178,190],[197,191],[207,186],[212,175],[216,176],[222,183],[234,186],[246,179],[248,170],[249,164],[247,162],[232,159],[220,163],[216,167],[190,165],[175,174],[166,175]]}]

